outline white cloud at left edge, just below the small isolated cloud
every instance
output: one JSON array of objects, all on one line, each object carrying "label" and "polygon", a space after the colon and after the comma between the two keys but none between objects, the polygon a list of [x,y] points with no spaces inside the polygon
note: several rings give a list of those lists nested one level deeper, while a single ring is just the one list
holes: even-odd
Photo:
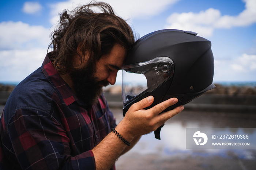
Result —
[{"label": "white cloud at left edge, just below the small isolated cloud", "polygon": [[0,49],[27,49],[33,47],[48,47],[50,43],[49,28],[30,26],[23,22],[0,23]]}]

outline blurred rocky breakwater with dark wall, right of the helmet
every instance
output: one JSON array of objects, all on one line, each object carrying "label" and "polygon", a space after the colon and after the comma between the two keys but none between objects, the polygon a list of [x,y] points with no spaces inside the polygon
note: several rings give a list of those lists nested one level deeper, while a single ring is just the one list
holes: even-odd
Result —
[{"label": "blurred rocky breakwater with dark wall, right of the helmet", "polygon": [[256,87],[220,84],[215,86],[191,101],[189,108],[214,112],[256,113]]}]

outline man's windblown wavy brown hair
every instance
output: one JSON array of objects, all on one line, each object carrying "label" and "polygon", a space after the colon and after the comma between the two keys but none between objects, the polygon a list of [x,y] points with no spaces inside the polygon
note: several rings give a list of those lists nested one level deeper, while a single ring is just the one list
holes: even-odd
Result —
[{"label": "man's windblown wavy brown hair", "polygon": [[[93,7],[101,10],[95,12]],[[77,7],[72,11],[64,10],[60,14],[59,26],[51,33],[49,48],[53,52],[50,60],[60,74],[74,71],[75,55],[79,55],[82,69],[85,54],[89,54],[90,62],[95,64],[102,55],[109,54],[112,47],[118,43],[129,50],[135,41],[131,27],[124,19],[115,15],[107,3],[91,2]],[[77,49],[80,47],[80,52]],[[88,61],[86,61],[88,62]]]}]

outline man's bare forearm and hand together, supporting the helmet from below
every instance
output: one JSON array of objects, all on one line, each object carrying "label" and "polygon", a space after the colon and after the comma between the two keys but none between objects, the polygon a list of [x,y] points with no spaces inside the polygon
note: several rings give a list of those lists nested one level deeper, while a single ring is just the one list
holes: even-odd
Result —
[{"label": "man's bare forearm and hand together, supporting the helmet from below", "polygon": [[155,131],[168,119],[184,109],[183,106],[179,106],[171,111],[161,113],[167,107],[177,103],[177,98],[170,98],[146,110],[145,108],[150,106],[153,101],[153,96],[149,96],[133,104],[125,114],[124,119],[115,128],[125,140],[131,143],[131,146],[127,146],[117,135],[110,132],[108,136],[92,149],[96,169],[110,169],[122,153],[132,148],[138,142],[141,135]]}]

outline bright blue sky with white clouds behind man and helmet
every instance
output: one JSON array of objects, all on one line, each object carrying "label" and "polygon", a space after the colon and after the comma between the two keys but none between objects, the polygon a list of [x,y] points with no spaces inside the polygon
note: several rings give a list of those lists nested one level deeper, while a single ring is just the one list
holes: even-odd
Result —
[{"label": "bright blue sky with white clouds behind man and helmet", "polygon": [[[0,82],[41,66],[58,13],[90,0],[1,0]],[[172,28],[212,42],[214,82],[256,81],[256,0],[106,0],[141,37]],[[118,72],[117,83],[121,83]]]}]

